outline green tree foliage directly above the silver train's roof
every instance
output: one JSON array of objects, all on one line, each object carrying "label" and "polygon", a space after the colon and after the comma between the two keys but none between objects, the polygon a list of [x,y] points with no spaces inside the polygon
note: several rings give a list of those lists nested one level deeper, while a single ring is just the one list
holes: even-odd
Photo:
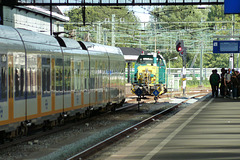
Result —
[{"label": "green tree foliage directly above the silver train's roof", "polygon": [[[72,31],[75,30],[75,33],[72,33],[71,36],[77,38],[77,40],[85,40],[97,42],[97,36],[100,36],[103,42],[103,37],[106,37],[107,44],[111,45],[111,29],[112,29],[112,15],[115,15],[115,36],[116,42],[124,42],[126,39],[118,38],[118,32],[122,32],[124,28],[124,32],[132,31],[133,29],[137,29],[140,26],[138,23],[138,18],[130,12],[125,6],[88,6],[85,8],[85,24],[83,26],[83,7],[78,7],[70,10],[66,13],[70,18],[70,22],[73,24],[65,25],[65,29]],[[132,22],[135,25],[124,25],[122,22]],[[97,33],[99,31],[99,33]],[[77,33],[76,33],[77,32]],[[97,35],[99,34],[99,35]],[[101,35],[100,35],[101,34]],[[129,33],[131,35],[138,33]]]}]

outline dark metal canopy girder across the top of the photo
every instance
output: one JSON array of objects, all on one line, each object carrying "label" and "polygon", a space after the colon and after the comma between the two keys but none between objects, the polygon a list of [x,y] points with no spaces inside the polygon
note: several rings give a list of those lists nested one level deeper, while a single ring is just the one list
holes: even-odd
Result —
[{"label": "dark metal canopy girder across the top of the photo", "polygon": [[2,5],[213,5],[224,4],[224,0],[0,0]]}]

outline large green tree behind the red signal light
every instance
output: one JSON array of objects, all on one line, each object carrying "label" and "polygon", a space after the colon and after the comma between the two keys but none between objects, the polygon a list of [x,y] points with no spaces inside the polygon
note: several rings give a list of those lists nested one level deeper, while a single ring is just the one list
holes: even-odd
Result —
[{"label": "large green tree behind the red signal light", "polygon": [[[195,56],[195,54],[191,54],[193,52],[195,53],[196,47],[193,47],[194,43],[199,40],[199,32],[202,32],[202,29],[207,26],[201,22],[207,19],[208,10],[200,10],[197,6],[164,6],[156,7],[151,13],[152,20],[154,22],[160,22],[156,28],[161,30],[162,41],[169,45],[164,46],[160,43],[158,46],[160,50],[163,50],[162,54],[166,60],[168,61],[168,59],[172,57],[179,56],[175,49],[169,50],[169,48],[175,46],[176,40],[183,39],[185,46],[188,48],[187,66],[190,66]],[[150,25],[149,27],[153,29],[154,26]],[[169,34],[171,34],[171,37]],[[198,51],[200,52],[199,48]],[[173,66],[182,67],[181,58],[177,61]]]}]

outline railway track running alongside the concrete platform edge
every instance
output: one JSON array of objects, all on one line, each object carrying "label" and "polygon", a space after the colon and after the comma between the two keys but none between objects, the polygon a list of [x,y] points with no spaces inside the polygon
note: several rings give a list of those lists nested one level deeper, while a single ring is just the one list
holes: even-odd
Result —
[{"label": "railway track running alongside the concrete platform edge", "polygon": [[[92,146],[92,147],[90,147],[90,148],[88,148],[88,149],[86,149],[86,150],[68,158],[68,160],[87,159],[88,157],[92,156],[93,154],[97,153],[98,151],[102,150],[103,148],[117,142],[118,140],[126,137],[127,135],[139,131],[140,128],[145,127],[146,125],[150,124],[151,122],[154,122],[155,119],[158,119],[158,118],[160,118],[164,115],[167,115],[167,114],[175,111],[179,106],[186,103],[190,99],[205,96],[207,93],[208,92],[199,92],[199,94],[197,94],[197,95],[195,93],[194,96],[186,99],[185,101],[183,101],[183,102],[181,102],[177,105],[174,105],[172,107],[169,107],[169,108],[167,108],[167,109],[165,109],[165,110],[163,110],[163,111],[161,111],[161,112],[159,112],[159,113],[157,113],[157,114],[155,114],[155,115],[153,115],[153,116],[151,116],[151,117],[149,117],[149,118],[147,118],[147,119],[145,119],[145,120],[143,120],[143,121],[141,121],[141,122],[139,122],[135,125],[132,125],[131,127],[128,127],[126,129],[122,130],[121,132],[119,132],[119,133],[117,133],[117,134],[115,134],[115,135],[97,143],[96,145],[94,145],[94,146]],[[150,100],[152,100],[152,99],[150,99]],[[150,101],[150,100],[148,100],[148,101]],[[136,107],[136,106],[137,106],[137,104],[134,104],[132,107]]]}]

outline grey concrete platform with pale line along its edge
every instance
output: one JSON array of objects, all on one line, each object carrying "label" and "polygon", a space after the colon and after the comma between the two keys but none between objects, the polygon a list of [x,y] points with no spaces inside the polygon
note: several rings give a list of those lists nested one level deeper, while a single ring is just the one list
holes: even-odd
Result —
[{"label": "grey concrete platform with pale line along its edge", "polygon": [[240,100],[207,97],[108,160],[240,160]]}]

